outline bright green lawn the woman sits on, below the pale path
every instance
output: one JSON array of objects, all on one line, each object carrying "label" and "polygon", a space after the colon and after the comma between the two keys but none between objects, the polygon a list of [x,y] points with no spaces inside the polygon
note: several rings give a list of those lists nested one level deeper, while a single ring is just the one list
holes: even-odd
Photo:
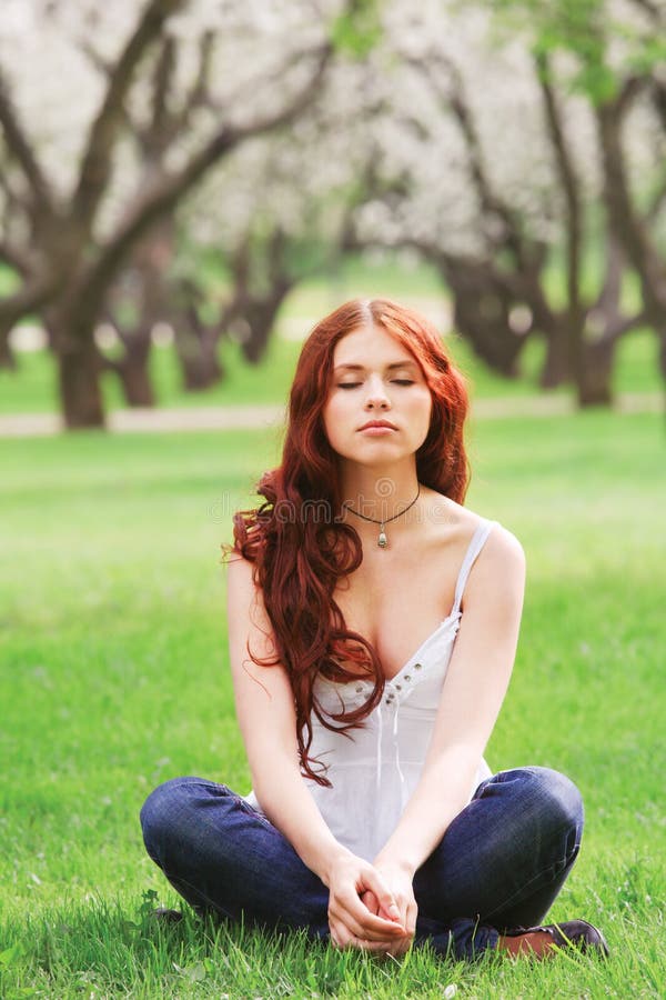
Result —
[{"label": "bright green lawn the woman sits on, below the pale path", "polygon": [[468,506],[523,541],[528,583],[496,769],[581,787],[583,851],[552,912],[612,959],[474,967],[340,954],[188,919],[141,843],[159,781],[245,790],[219,544],[278,454],[261,432],[0,441],[0,996],[458,998],[665,992],[663,419],[480,421]]}]

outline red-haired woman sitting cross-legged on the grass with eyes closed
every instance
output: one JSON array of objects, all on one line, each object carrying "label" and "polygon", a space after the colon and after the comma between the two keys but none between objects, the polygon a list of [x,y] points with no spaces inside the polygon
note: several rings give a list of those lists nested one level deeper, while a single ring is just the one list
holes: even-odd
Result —
[{"label": "red-haired woman sitting cross-legged on the grass with eyes closed", "polygon": [[533,927],[578,852],[581,797],[483,760],[513,667],[525,561],[462,506],[464,380],[435,329],[353,301],[306,340],[282,464],[234,518],[229,637],[253,792],[168,781],[150,856],[198,911],[336,948],[606,952]]}]

